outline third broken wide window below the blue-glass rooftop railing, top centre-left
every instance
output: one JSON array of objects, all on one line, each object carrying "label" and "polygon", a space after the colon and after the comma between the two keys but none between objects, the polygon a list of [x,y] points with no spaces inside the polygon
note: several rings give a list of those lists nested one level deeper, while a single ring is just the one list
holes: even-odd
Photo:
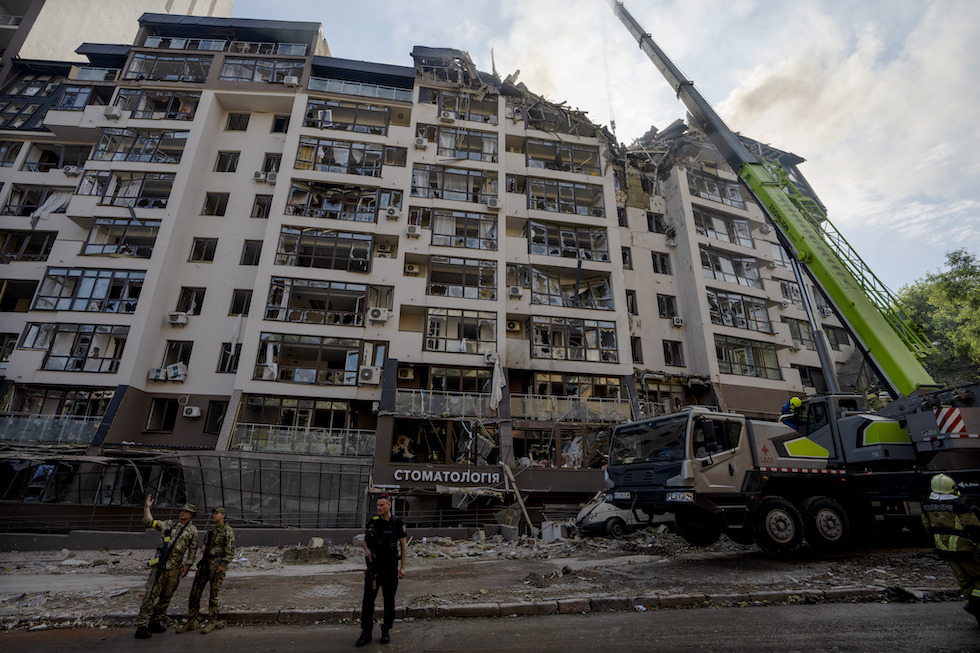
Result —
[{"label": "third broken wide window below the blue-glass rooftop railing, top centre-left", "polygon": [[378,211],[400,209],[402,191],[376,186],[293,181],[286,200],[286,215],[377,222]]}]

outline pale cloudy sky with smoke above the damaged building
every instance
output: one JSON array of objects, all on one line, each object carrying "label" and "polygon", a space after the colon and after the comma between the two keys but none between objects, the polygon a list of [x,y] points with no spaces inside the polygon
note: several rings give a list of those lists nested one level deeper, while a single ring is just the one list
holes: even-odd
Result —
[{"label": "pale cloudy sky with smoke above the damaged building", "polygon": [[[980,254],[980,2],[626,0],[728,126],[806,159],[830,220],[892,290]],[[270,9],[274,7],[274,9]],[[685,116],[605,0],[236,0],[317,22],[334,57],[412,47],[615,122],[623,143]]]}]

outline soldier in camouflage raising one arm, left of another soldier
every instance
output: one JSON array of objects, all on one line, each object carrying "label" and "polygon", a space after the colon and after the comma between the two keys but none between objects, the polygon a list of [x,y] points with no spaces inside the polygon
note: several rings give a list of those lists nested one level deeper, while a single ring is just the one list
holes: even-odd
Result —
[{"label": "soldier in camouflage raising one arm, left of another soldier", "polygon": [[[143,525],[163,533],[157,556],[150,561],[150,577],[146,581],[143,602],[136,617],[136,637],[149,639],[153,633],[163,633],[170,599],[177,590],[180,579],[187,575],[197,555],[197,528],[191,523],[197,508],[184,504],[176,520],[158,521],[150,514],[152,495],[146,495],[143,504]],[[155,604],[155,605],[154,605]]]}]

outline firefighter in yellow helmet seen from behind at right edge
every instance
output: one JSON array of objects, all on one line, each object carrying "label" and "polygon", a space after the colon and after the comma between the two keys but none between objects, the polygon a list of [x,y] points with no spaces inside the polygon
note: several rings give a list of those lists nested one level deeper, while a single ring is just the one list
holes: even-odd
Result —
[{"label": "firefighter in yellow helmet seen from behind at right edge", "polygon": [[964,609],[980,624],[980,511],[960,496],[949,475],[936,474],[931,486],[932,494],[922,503],[922,525],[952,568],[967,599]]}]

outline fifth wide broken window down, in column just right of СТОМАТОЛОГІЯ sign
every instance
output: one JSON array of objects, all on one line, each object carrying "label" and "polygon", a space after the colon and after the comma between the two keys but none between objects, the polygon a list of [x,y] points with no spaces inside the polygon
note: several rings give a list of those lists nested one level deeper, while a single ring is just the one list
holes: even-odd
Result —
[{"label": "fifth wide broken window down, in column just right of \u0421\u0422\u041e\u041c\u0410\u0422\u041e\u041b\u041e\u0413\u0406\u042f sign", "polygon": [[534,316],[532,329],[532,358],[619,362],[615,322]]}]

